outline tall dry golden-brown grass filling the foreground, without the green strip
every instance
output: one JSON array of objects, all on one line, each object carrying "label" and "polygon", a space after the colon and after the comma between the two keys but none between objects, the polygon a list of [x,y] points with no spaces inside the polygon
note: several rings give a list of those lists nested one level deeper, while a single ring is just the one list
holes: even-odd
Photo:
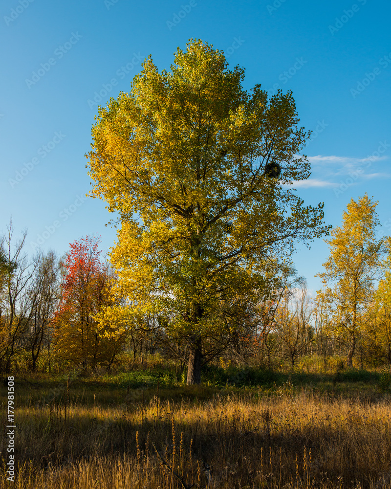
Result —
[{"label": "tall dry golden-brown grass filling the foreground, without the green strip", "polygon": [[303,390],[197,400],[202,389],[176,402],[143,393],[132,404],[127,392],[121,407],[92,394],[83,404],[68,393],[60,406],[26,403],[17,416],[19,476],[7,483],[3,431],[0,488],[391,488],[389,399]]}]

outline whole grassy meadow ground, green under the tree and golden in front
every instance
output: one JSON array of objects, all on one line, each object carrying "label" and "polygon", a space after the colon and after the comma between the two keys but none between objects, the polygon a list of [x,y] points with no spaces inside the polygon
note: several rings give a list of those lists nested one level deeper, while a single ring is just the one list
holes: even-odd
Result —
[{"label": "whole grassy meadow ground, green under the tree and golden in front", "polygon": [[16,376],[19,476],[6,480],[1,387],[0,488],[391,488],[387,375]]}]

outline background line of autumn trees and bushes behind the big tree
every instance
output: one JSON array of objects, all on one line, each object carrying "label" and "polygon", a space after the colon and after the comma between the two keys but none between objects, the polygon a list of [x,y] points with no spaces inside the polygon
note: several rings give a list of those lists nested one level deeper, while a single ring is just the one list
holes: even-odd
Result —
[{"label": "background line of autumn trees and bushes behind the big tree", "polygon": [[[367,195],[350,201],[330,232],[318,274],[325,286],[314,297],[292,263],[275,259],[261,287],[220,299],[201,366],[300,368],[310,357],[326,366],[331,356],[348,366],[391,365],[390,238],[377,238],[375,207]],[[156,353],[188,365],[187,332],[172,326],[178,313],[135,316],[98,238],[75,241],[61,259],[53,251],[29,258],[25,238],[14,240],[10,227],[0,241],[2,372],[96,371],[124,358],[129,367]]]}]

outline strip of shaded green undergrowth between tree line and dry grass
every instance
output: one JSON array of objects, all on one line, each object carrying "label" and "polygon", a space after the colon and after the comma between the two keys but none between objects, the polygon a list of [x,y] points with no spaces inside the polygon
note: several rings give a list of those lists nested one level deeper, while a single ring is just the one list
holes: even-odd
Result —
[{"label": "strip of shaded green undergrowth between tree line and dry grass", "polygon": [[[69,379],[69,380],[68,380]],[[208,399],[217,393],[250,394],[254,397],[288,396],[305,391],[341,398],[368,400],[391,395],[391,373],[344,369],[335,373],[279,372],[256,368],[203,368],[200,386],[186,385],[186,370],[170,367],[134,369],[130,372],[89,374],[73,370],[65,375],[35,374],[15,376],[16,395],[22,405],[70,402],[82,404],[146,402],[180,397]],[[1,389],[1,401],[5,388]]]}]

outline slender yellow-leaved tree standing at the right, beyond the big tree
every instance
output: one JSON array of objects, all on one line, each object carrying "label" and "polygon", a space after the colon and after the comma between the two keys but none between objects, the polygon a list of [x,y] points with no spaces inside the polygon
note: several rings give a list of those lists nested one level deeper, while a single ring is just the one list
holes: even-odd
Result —
[{"label": "slender yellow-leaved tree standing at the right, beyond the big tree", "polygon": [[342,226],[330,231],[330,255],[323,264],[325,271],[316,276],[325,284],[325,291],[317,291],[318,300],[326,294],[332,309],[332,320],[337,331],[348,335],[348,366],[356,348],[362,319],[373,292],[373,280],[379,271],[385,238],[376,240],[377,202],[368,195],[351,199],[344,211]]}]

